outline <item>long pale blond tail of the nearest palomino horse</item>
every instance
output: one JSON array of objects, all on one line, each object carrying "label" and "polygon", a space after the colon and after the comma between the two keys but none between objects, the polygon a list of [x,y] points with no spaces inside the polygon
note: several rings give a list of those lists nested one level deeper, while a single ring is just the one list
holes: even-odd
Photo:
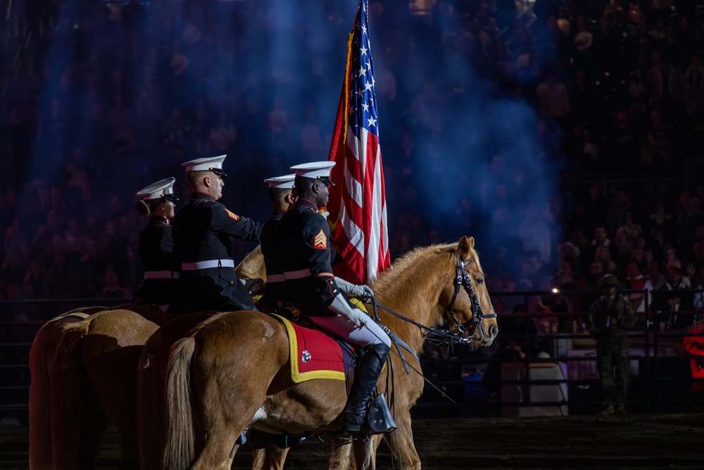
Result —
[{"label": "long pale blond tail of the nearest palomino horse", "polygon": [[182,338],[174,343],[169,358],[166,384],[168,426],[164,468],[170,470],[189,468],[195,454],[189,388],[191,359],[195,349],[195,338]]}]

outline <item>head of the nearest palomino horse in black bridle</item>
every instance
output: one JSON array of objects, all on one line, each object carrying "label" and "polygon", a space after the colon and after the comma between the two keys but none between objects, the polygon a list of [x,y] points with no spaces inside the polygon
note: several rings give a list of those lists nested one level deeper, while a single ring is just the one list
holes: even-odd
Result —
[{"label": "head of the nearest palomino horse in black bridle", "polygon": [[472,349],[489,346],[498,334],[498,324],[474,250],[474,237],[462,237],[448,252],[454,255],[455,276],[441,292],[441,307],[450,333],[463,338]]}]

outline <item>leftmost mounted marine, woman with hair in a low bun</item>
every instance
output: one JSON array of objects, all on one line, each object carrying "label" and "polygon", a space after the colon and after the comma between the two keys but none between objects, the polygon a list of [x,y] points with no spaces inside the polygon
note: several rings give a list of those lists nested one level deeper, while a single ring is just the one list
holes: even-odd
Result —
[{"label": "leftmost mounted marine, woman with hair in a low bun", "polygon": [[134,302],[168,307],[179,278],[180,264],[174,256],[169,219],[174,216],[178,197],[173,193],[175,178],[157,181],[137,192],[142,199],[137,209],[149,215],[149,223],[139,233],[139,258],[144,280],[134,292]]}]

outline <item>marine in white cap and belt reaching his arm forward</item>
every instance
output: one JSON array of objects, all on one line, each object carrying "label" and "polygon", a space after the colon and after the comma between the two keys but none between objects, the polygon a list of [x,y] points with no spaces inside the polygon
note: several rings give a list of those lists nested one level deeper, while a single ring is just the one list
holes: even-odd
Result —
[{"label": "marine in white cap and belt reaching his arm forward", "polygon": [[238,216],[218,202],[227,175],[225,155],[182,163],[191,199],[173,221],[175,252],[181,261],[177,299],[170,314],[194,311],[256,310],[244,284],[234,273],[232,239],[259,242],[262,224]]}]

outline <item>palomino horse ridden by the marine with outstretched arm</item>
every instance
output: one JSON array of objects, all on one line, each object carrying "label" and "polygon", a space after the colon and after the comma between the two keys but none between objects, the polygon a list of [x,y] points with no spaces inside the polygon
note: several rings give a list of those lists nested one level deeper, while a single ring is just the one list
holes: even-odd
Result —
[{"label": "palomino horse ridden by the marine with outstretched arm", "polygon": [[[256,278],[263,266],[257,247],[235,271],[241,278]],[[42,465],[32,466],[32,470],[93,468],[108,419],[115,421],[122,435],[120,468],[139,468],[137,362],[146,340],[172,317],[155,307],[120,307],[100,307],[104,311],[63,328],[61,341],[54,340],[51,345],[45,340],[38,342],[46,335],[37,335],[34,340],[32,350],[42,351],[37,357],[49,355],[54,362],[51,395],[46,391],[48,386],[42,388],[41,395],[45,399],[42,416],[49,416],[51,409],[51,425],[49,419],[35,420],[42,440],[30,438],[30,452],[36,450],[34,460]],[[56,329],[51,329],[54,336]],[[40,406],[37,404],[37,409]]]}]

